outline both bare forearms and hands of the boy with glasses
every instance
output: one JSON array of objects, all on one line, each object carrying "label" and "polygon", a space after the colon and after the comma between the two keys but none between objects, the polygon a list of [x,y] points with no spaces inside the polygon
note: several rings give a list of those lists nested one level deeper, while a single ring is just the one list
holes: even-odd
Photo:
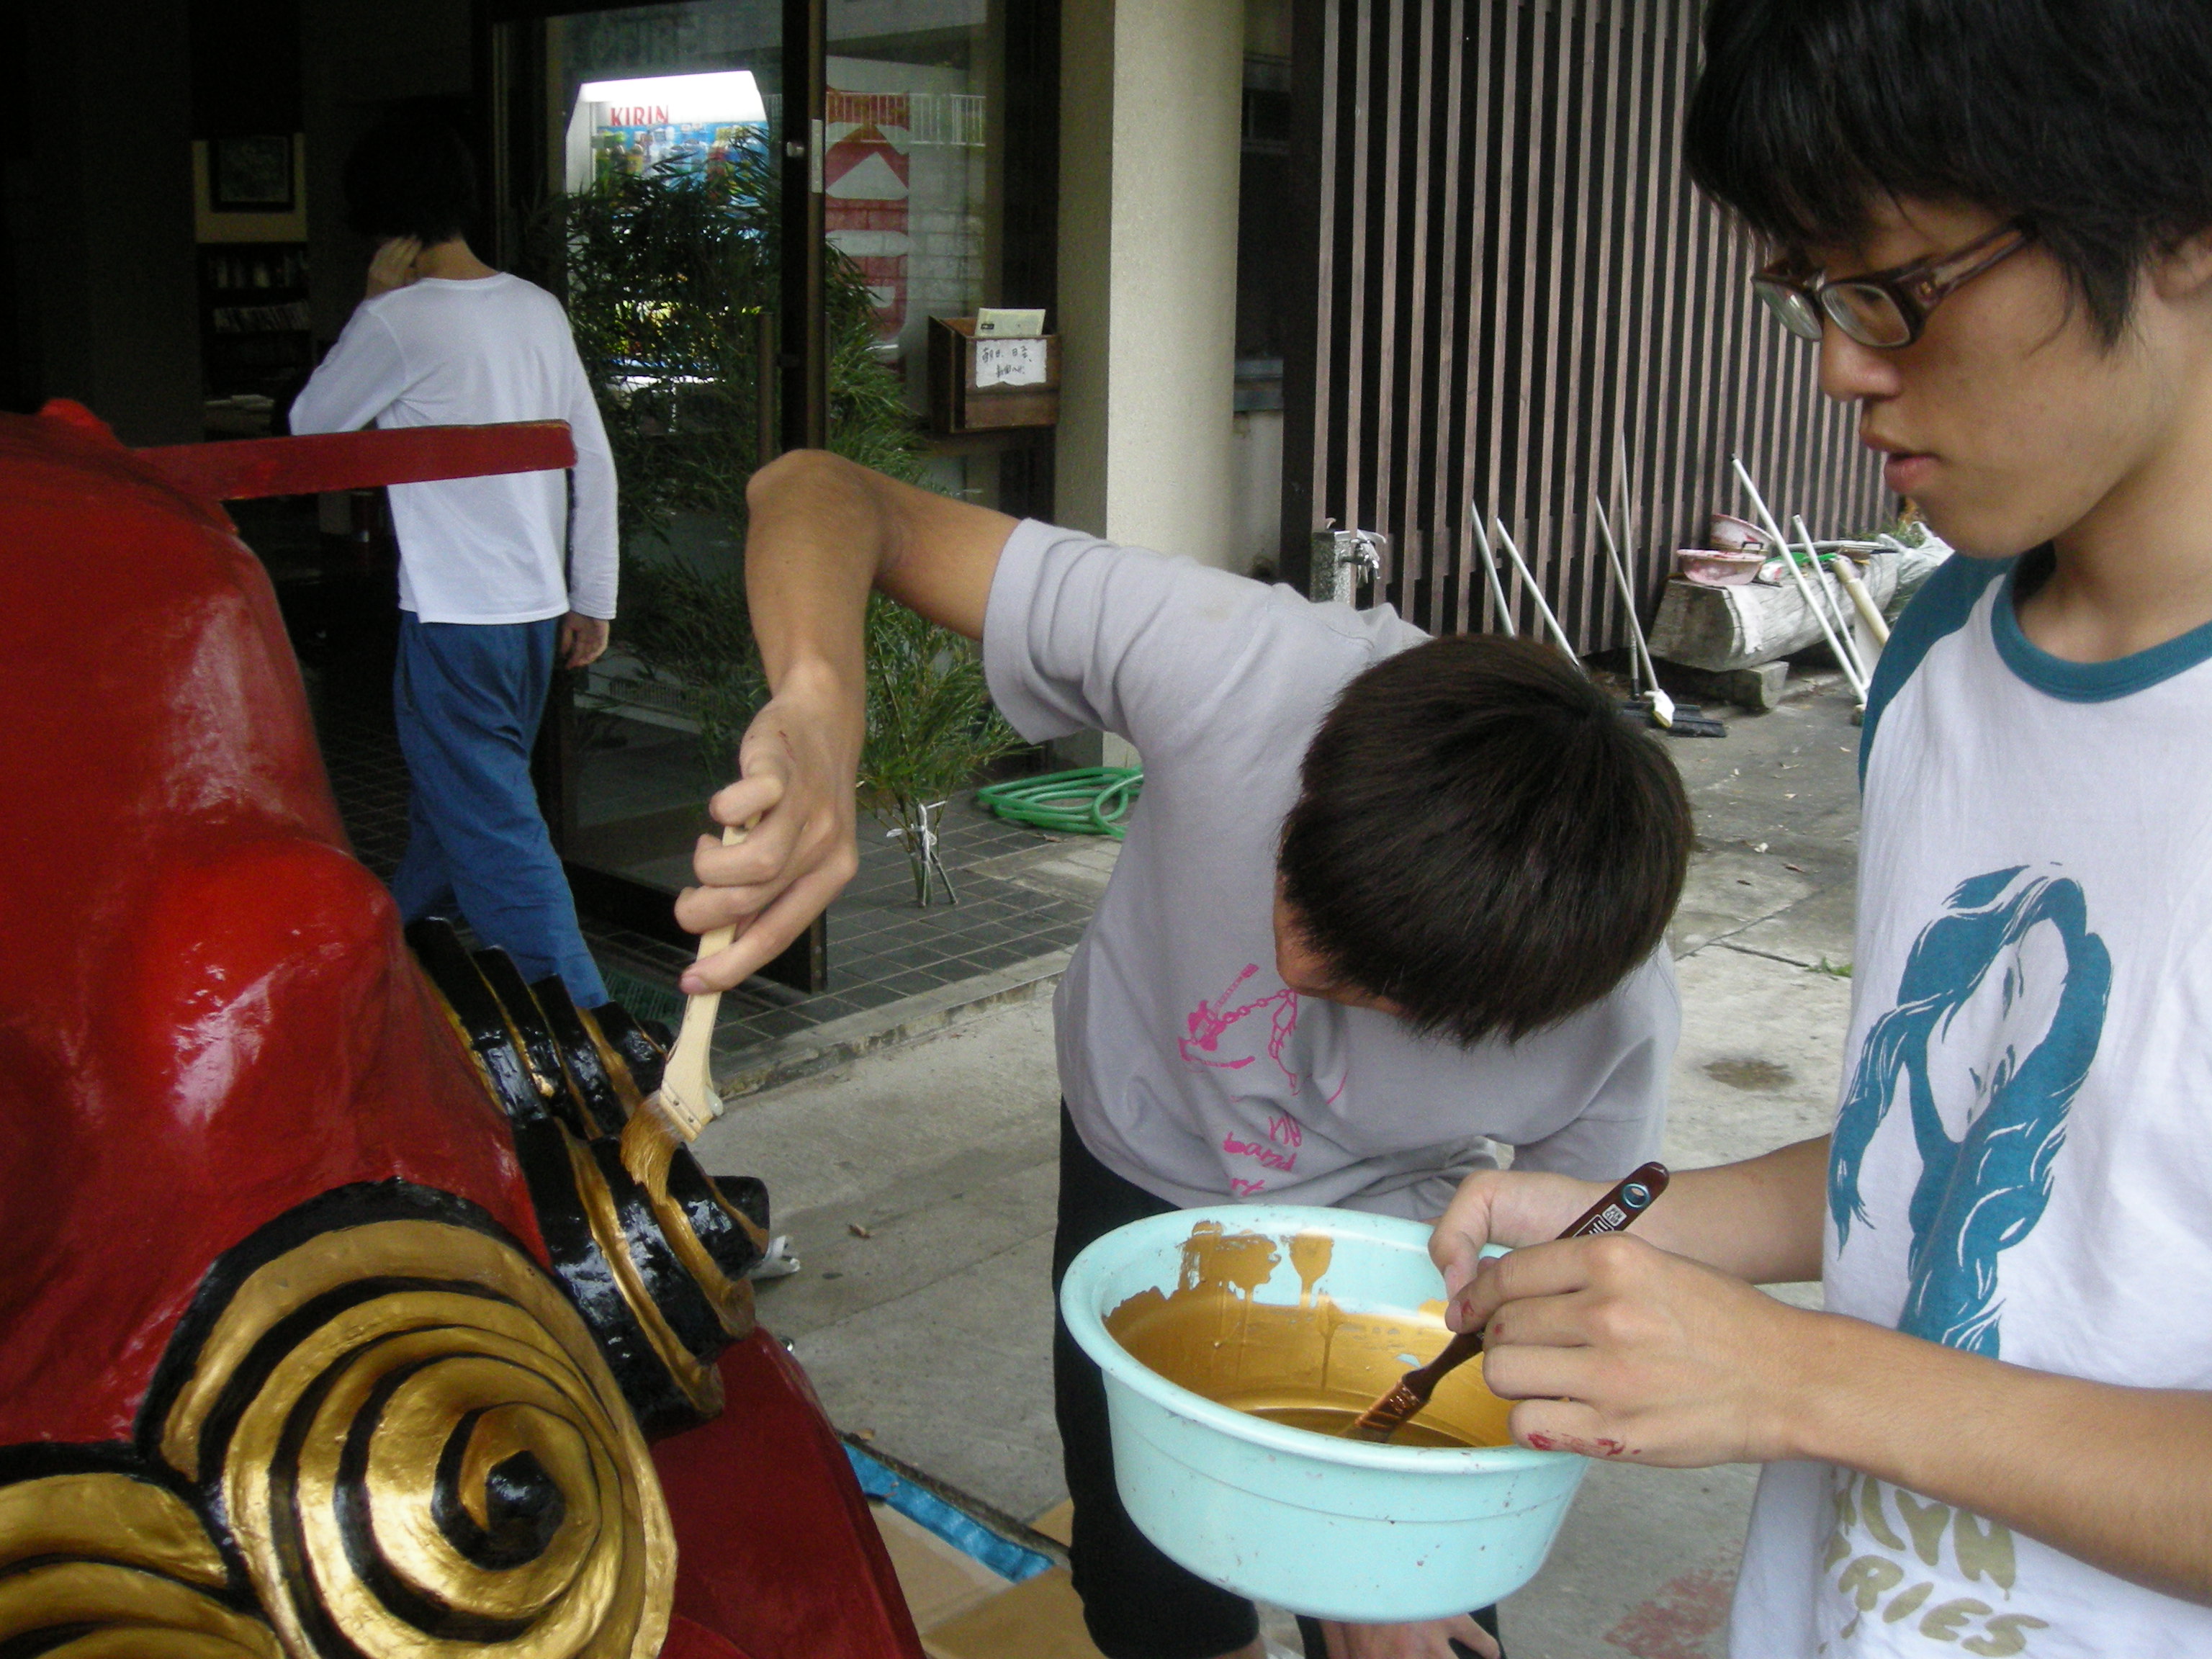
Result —
[{"label": "both bare forearms and hands of the boy with glasses", "polygon": [[[1825,1150],[1690,1170],[1637,1232],[1559,1243],[1535,1241],[1597,1183],[1471,1177],[1431,1252],[1451,1325],[1489,1327],[1513,1438],[1674,1467],[1834,1462],[2212,1604],[2212,1394],[2031,1371],[1745,1283],[1818,1272]],[[1469,1272],[1486,1239],[1533,1248]]]}]

